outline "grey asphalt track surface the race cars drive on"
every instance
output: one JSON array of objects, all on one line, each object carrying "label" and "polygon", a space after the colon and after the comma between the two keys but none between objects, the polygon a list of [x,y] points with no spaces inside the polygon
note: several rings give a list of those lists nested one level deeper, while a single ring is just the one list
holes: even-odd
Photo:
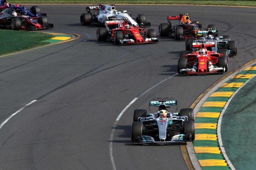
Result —
[{"label": "grey asphalt track surface the race cars drive on", "polygon": [[[39,5],[54,24],[50,31],[78,33],[74,41],[0,58],[0,121],[32,100],[0,129],[0,167],[5,170],[112,169],[110,134],[120,112],[135,97],[177,72],[184,41],[114,46],[97,42],[97,25],[82,26],[87,5]],[[238,55],[228,71],[255,59],[255,8],[118,5],[143,13],[158,30],[166,16],[190,13],[230,35]],[[186,169],[180,145],[134,146],[133,110],[152,97],[175,97],[186,108],[223,75],[174,76],[133,103],[117,124],[113,159],[119,169]]]}]

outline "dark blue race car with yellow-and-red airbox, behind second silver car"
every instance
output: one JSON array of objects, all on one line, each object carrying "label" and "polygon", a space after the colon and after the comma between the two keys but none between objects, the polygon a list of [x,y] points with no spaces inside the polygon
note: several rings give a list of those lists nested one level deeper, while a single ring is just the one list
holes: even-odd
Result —
[{"label": "dark blue race car with yellow-and-red airbox, behind second silver car", "polygon": [[[168,23],[159,25],[159,33],[161,37],[172,36],[175,40],[183,40],[189,37],[197,37],[197,31],[202,29],[202,24],[198,21],[192,22],[189,14],[180,14],[179,16],[167,16]],[[179,23],[172,26],[171,21],[178,20]],[[208,28],[215,27],[215,25],[208,25]]]}]

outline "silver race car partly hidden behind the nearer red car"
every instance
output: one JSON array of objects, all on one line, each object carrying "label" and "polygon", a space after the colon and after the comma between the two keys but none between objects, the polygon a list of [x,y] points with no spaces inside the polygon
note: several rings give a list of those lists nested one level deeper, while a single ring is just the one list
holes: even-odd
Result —
[{"label": "silver race car partly hidden behind the nearer red car", "polygon": [[[214,32],[217,30],[211,31],[198,31],[198,34],[203,34],[207,32],[207,35],[200,38],[186,38],[185,45],[187,51],[199,51],[201,44],[206,46],[206,49],[209,51],[226,53],[228,56],[237,55],[237,43],[236,41],[230,41],[230,36],[224,35],[217,37]],[[227,49],[227,50],[225,50]]]}]

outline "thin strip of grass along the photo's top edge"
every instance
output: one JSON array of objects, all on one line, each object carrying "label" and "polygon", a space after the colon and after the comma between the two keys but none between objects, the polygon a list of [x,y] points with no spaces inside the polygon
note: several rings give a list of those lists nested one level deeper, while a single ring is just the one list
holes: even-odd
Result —
[{"label": "thin strip of grass along the photo's top edge", "polygon": [[10,3],[187,4],[256,6],[256,0],[14,0]]}]

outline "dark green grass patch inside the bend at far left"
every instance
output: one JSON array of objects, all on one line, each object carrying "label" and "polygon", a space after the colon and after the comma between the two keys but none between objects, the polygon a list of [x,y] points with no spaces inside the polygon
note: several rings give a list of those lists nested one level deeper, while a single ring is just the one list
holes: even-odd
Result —
[{"label": "dark green grass patch inside the bend at far left", "polygon": [[49,44],[42,41],[53,37],[46,33],[13,31],[7,29],[0,30],[0,35],[0,56],[11,52]]}]

